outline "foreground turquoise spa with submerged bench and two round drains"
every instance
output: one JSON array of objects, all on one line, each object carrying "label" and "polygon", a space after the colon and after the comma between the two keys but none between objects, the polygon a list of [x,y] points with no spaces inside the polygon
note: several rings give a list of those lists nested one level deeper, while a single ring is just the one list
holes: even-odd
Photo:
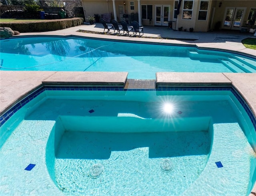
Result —
[{"label": "foreground turquoise spa with submerged bench and two round drains", "polygon": [[43,86],[7,113],[1,194],[248,195],[256,180],[255,118],[228,86]]}]

